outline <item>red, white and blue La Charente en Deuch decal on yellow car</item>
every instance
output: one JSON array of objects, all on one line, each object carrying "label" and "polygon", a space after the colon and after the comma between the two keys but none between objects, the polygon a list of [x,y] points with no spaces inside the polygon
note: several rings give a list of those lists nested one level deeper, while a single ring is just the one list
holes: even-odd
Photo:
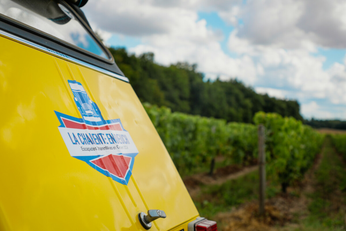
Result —
[{"label": "red, white and blue La Charente en Deuch decal on yellow car", "polygon": [[130,134],[120,119],[103,119],[99,107],[91,101],[80,82],[68,82],[82,118],[54,112],[61,123],[58,129],[70,155],[127,185],[138,154]]}]

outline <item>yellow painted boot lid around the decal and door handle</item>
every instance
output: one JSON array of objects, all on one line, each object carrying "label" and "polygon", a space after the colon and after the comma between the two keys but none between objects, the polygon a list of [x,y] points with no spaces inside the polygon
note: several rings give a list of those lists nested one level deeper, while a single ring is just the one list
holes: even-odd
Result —
[{"label": "yellow painted boot lid around the decal and door handle", "polygon": [[[0,229],[144,230],[137,214],[161,209],[151,230],[187,230],[198,212],[129,83],[6,37],[0,50]],[[67,80],[131,135],[128,185],[70,156],[54,113],[81,117]]]}]

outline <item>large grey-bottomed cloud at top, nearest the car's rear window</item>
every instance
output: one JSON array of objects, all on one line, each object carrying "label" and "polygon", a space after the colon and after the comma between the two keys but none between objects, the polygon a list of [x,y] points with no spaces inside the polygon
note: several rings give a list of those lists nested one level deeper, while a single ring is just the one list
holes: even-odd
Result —
[{"label": "large grey-bottomed cloud at top, nearest the car's rear window", "polygon": [[[166,34],[198,10],[233,9],[240,0],[98,0],[83,7],[91,21],[112,33],[129,36]],[[196,18],[197,19],[197,18]],[[185,21],[189,23],[189,21]]]}]

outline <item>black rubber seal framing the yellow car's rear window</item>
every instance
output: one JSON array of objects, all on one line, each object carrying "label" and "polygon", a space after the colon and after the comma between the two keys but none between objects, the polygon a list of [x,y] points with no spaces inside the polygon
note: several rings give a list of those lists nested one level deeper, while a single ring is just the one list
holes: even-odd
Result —
[{"label": "black rubber seal framing the yellow car's rear window", "polygon": [[[78,47],[76,45],[73,45],[71,43],[68,43],[68,42],[65,42],[64,40],[62,39],[59,39],[53,35],[50,35],[48,33],[45,33],[43,32],[42,30],[39,30],[39,29],[36,29],[35,27],[31,27],[27,24],[24,24],[24,23],[21,23],[20,21],[17,21],[13,18],[10,18],[6,15],[3,15],[3,14],[0,14],[0,18],[1,19],[5,19],[7,22],[10,22],[11,24],[16,24],[17,26],[21,27],[22,29],[25,29],[25,30],[29,30],[31,33],[34,33],[36,35],[39,35],[40,37],[44,37],[44,38],[47,38],[53,42],[56,42],[58,44],[61,44],[67,48],[70,48],[74,51],[77,51],[79,53],[83,53],[89,57],[92,57],[92,58],[95,58],[95,59],[98,59],[102,62],[106,62],[106,63],[109,63],[109,64],[114,64],[115,61],[113,59],[113,56],[111,55],[111,53],[109,52],[109,50],[107,49],[107,47],[105,47],[103,45],[103,43],[100,41],[100,39],[95,35],[95,33],[93,32],[93,30],[89,27],[89,25],[81,18],[81,16],[73,9],[73,7],[71,7],[68,3],[66,3],[64,0],[56,0],[57,3],[60,3],[62,4],[64,7],[66,7],[67,9],[69,9],[73,16],[75,17],[75,19],[81,24],[81,26],[85,29],[85,31],[87,33],[89,33],[89,35],[91,36],[91,38],[93,38],[93,40],[95,41],[95,43],[97,43],[97,45],[99,45],[99,47],[102,49],[102,51],[108,56],[108,59],[104,58],[104,57],[101,57],[97,54],[94,54],[88,50],[85,50],[81,47]],[[21,36],[22,37],[22,36]],[[37,42],[37,41],[35,41]],[[44,44],[42,44],[44,45]]]}]

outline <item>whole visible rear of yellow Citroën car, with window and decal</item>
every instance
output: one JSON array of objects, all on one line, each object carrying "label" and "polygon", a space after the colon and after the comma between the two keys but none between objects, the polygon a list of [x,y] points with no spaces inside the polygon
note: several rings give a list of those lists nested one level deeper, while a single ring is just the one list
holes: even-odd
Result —
[{"label": "whole visible rear of yellow Citro\u00ebn car, with window and decal", "polygon": [[216,231],[85,3],[0,0],[0,230]]}]

